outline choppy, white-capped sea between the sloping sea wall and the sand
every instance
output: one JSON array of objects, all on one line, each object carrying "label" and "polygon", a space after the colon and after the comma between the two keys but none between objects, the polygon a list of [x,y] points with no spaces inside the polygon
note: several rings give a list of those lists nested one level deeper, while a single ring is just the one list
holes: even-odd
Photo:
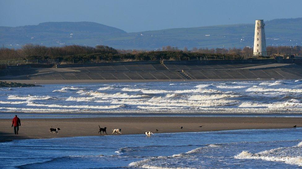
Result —
[{"label": "choppy, white-capped sea between the sloping sea wall and the sand", "polygon": [[301,97],[302,80],[49,84],[1,88],[0,115],[301,115]]}]

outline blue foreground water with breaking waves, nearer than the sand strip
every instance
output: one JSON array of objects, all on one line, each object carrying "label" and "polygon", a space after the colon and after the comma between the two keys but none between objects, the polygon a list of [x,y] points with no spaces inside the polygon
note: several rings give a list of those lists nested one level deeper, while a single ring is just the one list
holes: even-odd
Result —
[{"label": "blue foreground water with breaking waves, nearer than the sand strip", "polygon": [[0,168],[299,168],[301,128],[26,139]]}]

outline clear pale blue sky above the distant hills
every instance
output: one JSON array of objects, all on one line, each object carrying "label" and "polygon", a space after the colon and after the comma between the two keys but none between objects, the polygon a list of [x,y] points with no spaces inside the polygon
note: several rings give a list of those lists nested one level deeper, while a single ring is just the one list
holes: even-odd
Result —
[{"label": "clear pale blue sky above the distant hills", "polygon": [[0,26],[97,22],[126,32],[300,18],[301,0],[0,0]]}]

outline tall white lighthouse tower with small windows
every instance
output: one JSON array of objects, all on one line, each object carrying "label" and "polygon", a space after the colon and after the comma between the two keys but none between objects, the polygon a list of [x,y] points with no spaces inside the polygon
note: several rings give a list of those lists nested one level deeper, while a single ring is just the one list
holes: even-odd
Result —
[{"label": "tall white lighthouse tower with small windows", "polygon": [[264,26],[265,24],[263,23],[263,20],[256,20],[254,36],[254,56],[267,55]]}]

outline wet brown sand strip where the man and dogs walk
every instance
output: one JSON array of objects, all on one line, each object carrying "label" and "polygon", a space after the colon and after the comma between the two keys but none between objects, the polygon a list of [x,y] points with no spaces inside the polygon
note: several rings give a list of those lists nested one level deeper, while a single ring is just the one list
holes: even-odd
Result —
[{"label": "wet brown sand strip where the man and dogs walk", "polygon": [[[58,137],[96,136],[99,127],[107,127],[111,135],[114,128],[122,134],[167,132],[221,131],[236,129],[273,129],[302,126],[302,118],[285,117],[106,117],[75,119],[21,119],[19,135],[14,135],[11,119],[0,119],[0,141],[14,139],[43,139]],[[181,129],[180,127],[183,127]],[[199,127],[202,126],[202,127]],[[48,132],[49,128],[61,130],[59,134]],[[158,131],[156,131],[158,129]]]}]

